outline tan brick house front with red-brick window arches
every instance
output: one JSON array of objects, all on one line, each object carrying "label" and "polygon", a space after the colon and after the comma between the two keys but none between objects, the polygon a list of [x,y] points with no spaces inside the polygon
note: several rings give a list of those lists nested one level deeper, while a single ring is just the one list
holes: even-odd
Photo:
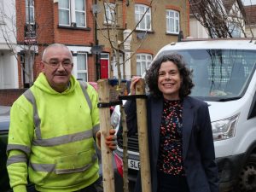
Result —
[{"label": "tan brick house front with red-brick window arches", "polygon": [[[143,75],[161,47],[177,42],[179,32],[183,32],[184,38],[189,36],[188,0],[161,0],[160,3],[154,0],[98,1],[98,7],[96,32],[99,44],[104,45],[101,64],[102,59],[106,58],[105,55],[108,55],[108,78],[118,78],[115,66],[117,55],[114,55],[106,38],[108,28],[116,29],[110,30],[110,37],[118,37],[119,42],[124,41],[127,34],[132,32],[125,43],[120,44],[119,62],[125,61],[125,64],[121,65],[122,79]],[[106,14],[104,7],[107,10]],[[111,12],[115,15],[114,18]],[[145,12],[146,19],[137,25]]]}]

